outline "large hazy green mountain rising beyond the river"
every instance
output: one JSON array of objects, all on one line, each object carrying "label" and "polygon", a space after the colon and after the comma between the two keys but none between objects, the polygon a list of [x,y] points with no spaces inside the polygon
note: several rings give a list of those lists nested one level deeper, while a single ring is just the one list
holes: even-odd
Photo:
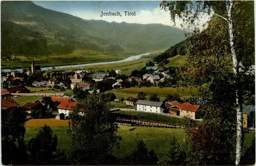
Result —
[{"label": "large hazy green mountain rising beyond the river", "polygon": [[[75,49],[146,52],[167,48],[185,39],[184,31],[175,27],[84,20],[30,1],[2,2],[1,31],[1,42],[5,45],[2,56],[63,54]],[[21,40],[27,44],[16,42]],[[36,41],[37,50],[29,46],[32,41]],[[42,48],[41,43],[44,43]]]}]

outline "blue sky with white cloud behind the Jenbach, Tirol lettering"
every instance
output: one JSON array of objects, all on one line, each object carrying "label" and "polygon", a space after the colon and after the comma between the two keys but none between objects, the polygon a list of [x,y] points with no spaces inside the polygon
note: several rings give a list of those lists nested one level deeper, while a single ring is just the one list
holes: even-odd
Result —
[{"label": "blue sky with white cloud behind the Jenbach, Tirol lettering", "polygon": [[[33,1],[36,5],[44,8],[68,13],[83,19],[95,19],[115,22],[129,23],[162,23],[163,25],[173,26],[169,12],[161,10],[161,1]],[[117,12],[120,16],[100,16],[103,12]],[[124,11],[134,12],[136,16],[125,16]],[[202,15],[198,28],[207,22],[209,16]],[[177,28],[181,28],[182,20],[176,19]]]}]

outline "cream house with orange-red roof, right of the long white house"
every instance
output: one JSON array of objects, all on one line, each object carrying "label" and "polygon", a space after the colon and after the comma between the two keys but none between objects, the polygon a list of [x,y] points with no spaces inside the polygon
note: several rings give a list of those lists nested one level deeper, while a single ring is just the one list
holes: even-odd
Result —
[{"label": "cream house with orange-red roof, right of the long white house", "polygon": [[169,107],[169,113],[176,116],[189,117],[193,120],[196,119],[196,112],[200,105],[192,105],[188,102],[177,104],[173,107]]}]

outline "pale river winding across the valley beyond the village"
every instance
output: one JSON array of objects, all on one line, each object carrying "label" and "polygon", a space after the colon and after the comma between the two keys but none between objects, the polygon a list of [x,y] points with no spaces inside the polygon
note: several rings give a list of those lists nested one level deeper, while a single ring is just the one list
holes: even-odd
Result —
[{"label": "pale river winding across the valley beyond the village", "polygon": [[[51,67],[41,67],[41,70],[49,70],[54,68],[70,68],[70,67],[83,67],[83,66],[92,66],[92,65],[99,65],[99,64],[112,64],[112,63],[121,63],[121,62],[128,62],[128,61],[133,61],[136,59],[140,59],[142,56],[144,55],[150,55],[151,53],[157,53],[157,52],[161,52],[161,51],[156,51],[156,52],[150,52],[150,53],[144,53],[144,54],[140,54],[140,55],[135,55],[135,56],[131,56],[129,58],[123,59],[123,60],[118,60],[118,61],[111,61],[111,62],[97,62],[97,63],[85,63],[85,64],[74,64],[74,65],[63,65],[63,66],[51,66]],[[12,70],[17,70],[19,72],[23,72],[24,68],[15,68],[15,69],[1,69],[1,72],[11,72]]]}]

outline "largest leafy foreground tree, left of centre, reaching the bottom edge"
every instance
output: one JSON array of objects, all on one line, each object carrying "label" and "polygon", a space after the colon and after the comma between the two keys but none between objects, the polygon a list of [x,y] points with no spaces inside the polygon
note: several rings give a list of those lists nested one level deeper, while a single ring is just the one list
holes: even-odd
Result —
[{"label": "largest leafy foreground tree, left of centre, reaching the bottom edge", "polygon": [[114,164],[112,151],[120,137],[117,136],[118,126],[109,114],[111,108],[103,94],[97,93],[89,95],[70,114],[69,164]]}]

